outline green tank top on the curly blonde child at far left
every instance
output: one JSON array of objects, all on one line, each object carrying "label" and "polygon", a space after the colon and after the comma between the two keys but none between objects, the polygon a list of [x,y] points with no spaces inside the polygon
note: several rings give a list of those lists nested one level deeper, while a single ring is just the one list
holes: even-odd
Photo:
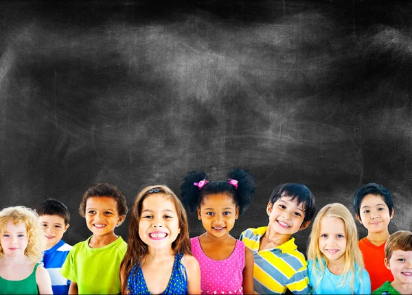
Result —
[{"label": "green tank top on the curly blonde child at far left", "polygon": [[40,263],[36,263],[33,272],[21,281],[9,281],[0,276],[0,294],[38,294],[36,270]]}]

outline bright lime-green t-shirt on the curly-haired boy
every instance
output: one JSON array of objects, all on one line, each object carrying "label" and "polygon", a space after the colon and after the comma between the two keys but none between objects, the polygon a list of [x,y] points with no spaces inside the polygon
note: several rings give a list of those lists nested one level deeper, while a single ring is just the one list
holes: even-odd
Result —
[{"label": "bright lime-green t-shirt on the curly-haired boy", "polygon": [[119,268],[126,254],[126,242],[119,237],[102,248],[90,248],[90,239],[73,246],[60,274],[77,283],[79,294],[120,293]]}]

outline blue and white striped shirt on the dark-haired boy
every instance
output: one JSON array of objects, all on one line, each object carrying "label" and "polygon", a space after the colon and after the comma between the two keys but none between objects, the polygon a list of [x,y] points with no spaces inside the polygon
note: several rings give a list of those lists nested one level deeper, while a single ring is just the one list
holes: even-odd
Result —
[{"label": "blue and white striped shirt on the dark-haired boy", "polygon": [[68,294],[70,281],[59,273],[63,263],[65,263],[69,251],[73,248],[65,241],[60,241],[49,250],[45,250],[43,256],[43,266],[49,272],[50,279],[52,279],[53,294]]}]

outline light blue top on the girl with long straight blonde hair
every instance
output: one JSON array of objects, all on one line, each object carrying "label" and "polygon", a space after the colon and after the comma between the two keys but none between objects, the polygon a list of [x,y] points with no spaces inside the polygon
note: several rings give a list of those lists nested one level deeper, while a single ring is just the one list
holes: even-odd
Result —
[{"label": "light blue top on the girl with long straight blonde hair", "polygon": [[355,279],[354,288],[351,292],[351,281],[352,272],[349,272],[346,276],[346,281],[342,282],[343,275],[337,276],[332,274],[328,267],[326,267],[325,260],[322,259],[323,266],[325,267],[325,272],[322,277],[320,277],[320,266],[317,261],[317,270],[319,274],[314,275],[313,272],[313,259],[308,261],[308,274],[309,282],[312,287],[312,294],[371,294],[371,280],[369,279],[369,274],[362,268],[359,270],[358,263],[355,263]]}]

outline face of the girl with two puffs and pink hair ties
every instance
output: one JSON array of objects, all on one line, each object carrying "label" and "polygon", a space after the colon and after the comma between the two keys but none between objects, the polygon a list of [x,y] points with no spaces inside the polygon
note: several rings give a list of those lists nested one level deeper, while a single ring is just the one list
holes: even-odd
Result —
[{"label": "face of the girl with two puffs and pink hair ties", "polygon": [[209,235],[224,237],[239,217],[239,207],[227,193],[213,193],[205,196],[198,208],[198,218]]}]

